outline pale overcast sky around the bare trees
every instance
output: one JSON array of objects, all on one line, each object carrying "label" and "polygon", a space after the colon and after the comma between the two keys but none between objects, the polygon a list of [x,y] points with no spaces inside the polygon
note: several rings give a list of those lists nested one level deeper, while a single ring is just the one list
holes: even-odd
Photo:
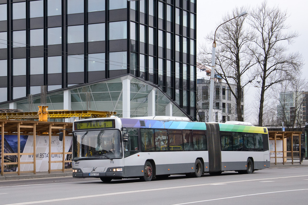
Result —
[{"label": "pale overcast sky around the bare trees", "polygon": [[[232,9],[237,6],[255,7],[260,5],[263,0],[244,1],[244,0],[197,0],[197,51],[201,44],[208,44],[212,46],[212,42],[206,42],[204,37],[215,30],[219,23],[221,23],[222,16],[227,12],[231,13]],[[282,10],[287,10],[290,17],[287,19],[287,23],[291,26],[292,31],[298,31],[300,36],[295,39],[295,43],[290,45],[290,52],[300,52],[306,63],[303,66],[303,75],[301,79],[308,79],[308,27],[306,15],[308,2],[300,0],[268,0],[269,6],[278,6]],[[305,61],[306,60],[306,61]],[[198,77],[206,76],[205,72],[197,72]],[[256,116],[250,117],[250,113],[253,110],[258,110],[258,107],[252,105],[254,96],[258,94],[257,88],[253,86],[245,87],[245,121],[254,122]],[[250,110],[251,108],[253,110]]]}]

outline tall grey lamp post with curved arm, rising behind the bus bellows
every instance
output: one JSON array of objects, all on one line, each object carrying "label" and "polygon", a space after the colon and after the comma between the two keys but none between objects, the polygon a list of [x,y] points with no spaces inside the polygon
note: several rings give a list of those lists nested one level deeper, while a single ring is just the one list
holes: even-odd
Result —
[{"label": "tall grey lamp post with curved arm, rising behind the bus bellows", "polygon": [[[231,18],[228,21],[231,21],[237,17],[241,17],[241,16],[247,16],[248,13],[246,11],[244,11],[243,13],[241,13],[240,15]],[[227,23],[228,21],[222,23],[221,25]],[[219,25],[219,26],[221,26]],[[219,26],[217,27],[217,29],[219,28]],[[213,121],[213,96],[214,96],[214,74],[215,74],[215,50],[216,50],[216,41],[215,41],[215,37],[216,37],[216,31],[214,33],[214,42],[213,42],[213,50],[212,50],[212,70],[211,70],[211,84],[210,84],[210,102],[209,102],[209,122]]]}]

